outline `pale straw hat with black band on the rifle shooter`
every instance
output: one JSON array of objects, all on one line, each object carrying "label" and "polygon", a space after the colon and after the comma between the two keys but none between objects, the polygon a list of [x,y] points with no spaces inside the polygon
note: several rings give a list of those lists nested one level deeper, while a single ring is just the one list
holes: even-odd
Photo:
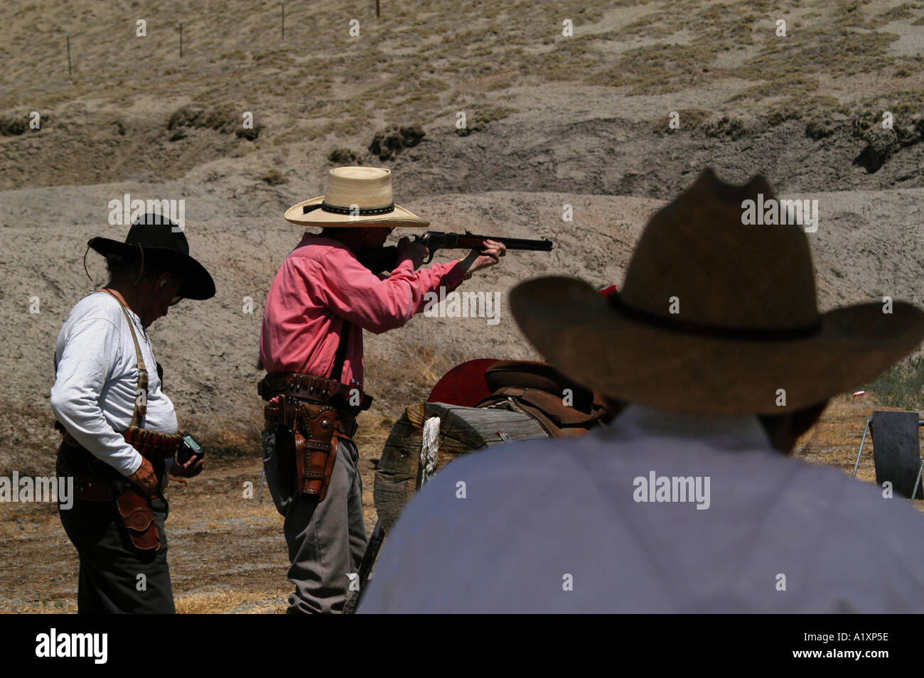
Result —
[{"label": "pale straw hat with black band on the rifle shooter", "polygon": [[382,167],[334,167],[327,192],[286,210],[286,221],[299,226],[417,226],[421,219],[392,199],[392,171]]}]

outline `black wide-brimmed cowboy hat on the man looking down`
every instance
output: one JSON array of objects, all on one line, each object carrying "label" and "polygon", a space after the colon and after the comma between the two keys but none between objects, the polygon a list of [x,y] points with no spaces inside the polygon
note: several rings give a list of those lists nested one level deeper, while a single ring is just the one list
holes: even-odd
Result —
[{"label": "black wide-brimmed cowboy hat on the man looking down", "polygon": [[179,226],[160,215],[145,214],[138,218],[128,229],[125,242],[97,236],[91,238],[87,246],[103,257],[120,254],[146,263],[156,262],[176,272],[182,280],[179,297],[201,300],[215,296],[212,275],[189,256],[186,235]]}]

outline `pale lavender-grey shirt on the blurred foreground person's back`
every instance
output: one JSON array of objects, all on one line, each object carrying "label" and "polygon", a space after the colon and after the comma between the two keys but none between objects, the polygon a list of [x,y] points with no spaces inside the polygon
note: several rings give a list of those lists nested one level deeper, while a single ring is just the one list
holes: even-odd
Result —
[{"label": "pale lavender-grey shirt on the blurred foreground person's back", "polygon": [[[708,492],[659,502],[652,472],[710,478]],[[359,611],[918,612],[922,534],[907,500],[776,452],[756,417],[630,406],[577,440],[446,466],[398,519]]]}]

